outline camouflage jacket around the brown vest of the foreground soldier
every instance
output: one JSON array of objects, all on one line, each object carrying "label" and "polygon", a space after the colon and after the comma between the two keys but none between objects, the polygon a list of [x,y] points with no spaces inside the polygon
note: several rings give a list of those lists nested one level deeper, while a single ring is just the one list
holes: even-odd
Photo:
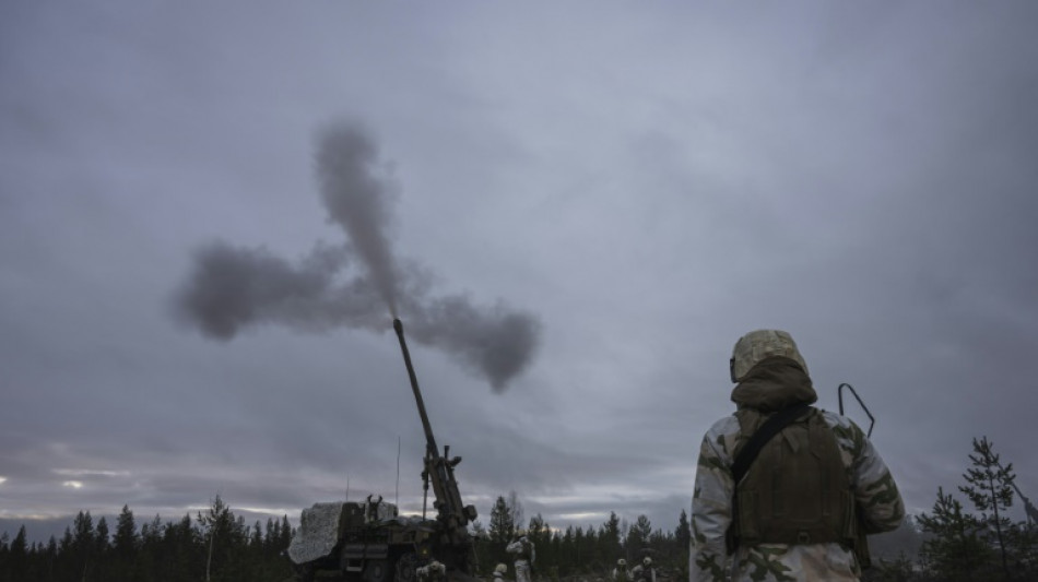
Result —
[{"label": "camouflage jacket around the brown vest of the foreground soldier", "polygon": [[[760,413],[756,425],[789,404],[816,400],[811,380],[803,372],[792,378],[770,378],[767,382],[744,381],[732,392],[732,401],[740,408]],[[897,528],[904,520],[905,507],[886,464],[853,421],[829,412],[822,414],[839,444],[865,531],[880,533]],[[837,543],[759,544],[740,546],[733,556],[727,555],[726,534],[732,519],[735,489],[731,466],[745,440],[747,437],[742,435],[735,416],[718,420],[703,438],[692,499],[689,581],[857,581],[861,569],[854,554]]]}]

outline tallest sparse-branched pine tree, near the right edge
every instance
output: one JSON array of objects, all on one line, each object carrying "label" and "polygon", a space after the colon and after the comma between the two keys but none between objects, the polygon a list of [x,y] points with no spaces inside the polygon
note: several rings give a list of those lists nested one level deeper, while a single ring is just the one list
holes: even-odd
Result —
[{"label": "tallest sparse-branched pine tree, near the right edge", "polygon": [[[984,537],[999,550],[1002,572],[1008,580],[1010,567],[1003,532],[1011,524],[1010,519],[1005,516],[1005,510],[1013,504],[1013,479],[1016,475],[1013,474],[1012,463],[1005,467],[999,463],[999,455],[992,443],[988,442],[988,437],[982,437],[980,441],[974,439],[974,453],[976,454],[969,455],[974,466],[967,468],[963,475],[969,485],[959,487],[959,490],[966,494],[980,512],[980,522],[987,530]],[[990,539],[992,530],[994,538]]]}]

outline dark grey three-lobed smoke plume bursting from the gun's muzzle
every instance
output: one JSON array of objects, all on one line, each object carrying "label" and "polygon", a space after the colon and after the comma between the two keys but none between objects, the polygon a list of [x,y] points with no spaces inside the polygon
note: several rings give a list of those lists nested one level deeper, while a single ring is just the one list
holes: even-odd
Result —
[{"label": "dark grey three-lobed smoke plume bursting from the gun's muzzle", "polygon": [[468,295],[432,296],[433,277],[398,260],[388,234],[396,188],[358,126],[337,124],[320,135],[317,173],[329,219],[347,242],[318,242],[294,263],[264,248],[207,245],[177,294],[177,312],[223,341],[261,324],[381,332],[390,317],[400,317],[409,338],[446,352],[495,391],[507,388],[532,360],[540,321],[503,301],[477,306]]}]

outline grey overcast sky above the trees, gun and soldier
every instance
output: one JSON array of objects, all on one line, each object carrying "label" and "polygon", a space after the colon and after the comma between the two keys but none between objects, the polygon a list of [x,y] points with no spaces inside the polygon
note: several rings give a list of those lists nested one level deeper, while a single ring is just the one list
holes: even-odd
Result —
[{"label": "grey overcast sky above the trees, gun and soldier", "polygon": [[[733,409],[731,348],[759,328],[798,341],[819,406],[853,384],[910,511],[963,484],[981,436],[1038,499],[1036,19],[4,2],[0,519],[179,519],[219,494],[296,520],[347,489],[396,499],[398,442],[399,502],[421,511],[425,441],[366,236],[484,524],[515,490],[554,526],[672,531]],[[337,199],[351,185],[374,233]],[[249,311],[235,273],[267,268],[319,293]],[[238,309],[223,333],[185,310],[217,283],[205,305]]]}]

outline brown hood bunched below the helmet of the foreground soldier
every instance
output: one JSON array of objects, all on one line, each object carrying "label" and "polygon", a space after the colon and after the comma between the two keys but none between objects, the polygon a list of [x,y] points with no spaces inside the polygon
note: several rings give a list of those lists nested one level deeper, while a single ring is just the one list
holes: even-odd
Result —
[{"label": "brown hood bunched below the helmet of the foreground soldier", "polygon": [[762,413],[780,411],[790,404],[812,404],[818,393],[799,364],[786,357],[770,357],[754,366],[732,390],[732,402],[740,408]]}]

